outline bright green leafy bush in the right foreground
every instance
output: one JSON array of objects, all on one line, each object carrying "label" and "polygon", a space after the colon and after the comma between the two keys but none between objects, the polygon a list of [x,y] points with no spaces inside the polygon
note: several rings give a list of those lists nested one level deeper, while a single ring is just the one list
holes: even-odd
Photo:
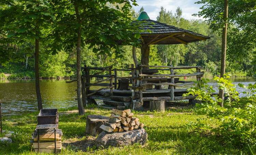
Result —
[{"label": "bright green leafy bush in the right foreground", "polygon": [[[189,93],[197,95],[196,99],[201,100],[202,104],[196,104],[197,108],[195,113],[198,115],[205,115],[205,118],[200,118],[197,122],[191,122],[188,127],[190,130],[198,132],[213,132],[216,135],[222,136],[223,141],[231,141],[238,148],[250,146],[256,146],[256,85],[249,85],[248,87],[239,84],[240,87],[247,88],[251,92],[247,98],[248,102],[240,102],[238,98],[238,92],[236,86],[226,74],[224,78],[215,77],[219,89],[223,89],[227,94],[227,100],[222,101],[217,95],[211,95],[215,92],[211,86],[207,85],[208,79],[202,79],[202,81],[196,82],[200,87],[189,88]],[[211,97],[213,96],[213,97]],[[218,103],[223,102],[223,107]],[[211,126],[206,124],[205,121],[217,121],[218,125]]]}]

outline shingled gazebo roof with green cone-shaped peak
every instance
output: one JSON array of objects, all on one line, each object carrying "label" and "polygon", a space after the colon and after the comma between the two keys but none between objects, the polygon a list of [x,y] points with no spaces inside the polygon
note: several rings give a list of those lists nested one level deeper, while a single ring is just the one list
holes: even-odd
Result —
[{"label": "shingled gazebo roof with green cone-shaped peak", "polygon": [[[208,36],[204,36],[199,33],[177,28],[165,23],[161,23],[155,20],[151,20],[146,12],[142,12],[138,18],[140,21],[148,22],[148,25],[144,25],[139,29],[151,30],[152,32],[142,32],[141,39],[144,44],[147,45],[172,45],[172,44],[186,44],[189,42],[196,42],[201,40],[210,39]],[[137,21],[133,21],[134,23]]]}]

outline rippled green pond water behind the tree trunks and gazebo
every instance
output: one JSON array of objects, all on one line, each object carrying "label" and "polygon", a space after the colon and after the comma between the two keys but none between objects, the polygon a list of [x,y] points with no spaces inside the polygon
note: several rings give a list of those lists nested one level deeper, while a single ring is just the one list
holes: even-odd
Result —
[{"label": "rippled green pond water behind the tree trunks and gazebo", "polygon": [[[183,79],[180,79],[183,80]],[[187,78],[186,81],[196,79]],[[69,80],[41,80],[40,90],[43,100],[43,108],[66,108],[76,106],[76,82],[66,83]],[[91,80],[92,81],[92,80]],[[254,84],[255,79],[231,78],[234,84],[243,83]],[[210,79],[209,85],[217,90],[217,83]],[[180,89],[189,88],[189,86],[180,87]],[[97,89],[93,87],[92,89]],[[238,87],[240,97],[245,89]],[[37,96],[35,93],[35,81],[30,80],[0,80],[0,100],[2,116],[11,117],[13,115],[22,115],[30,111],[37,111]]]}]

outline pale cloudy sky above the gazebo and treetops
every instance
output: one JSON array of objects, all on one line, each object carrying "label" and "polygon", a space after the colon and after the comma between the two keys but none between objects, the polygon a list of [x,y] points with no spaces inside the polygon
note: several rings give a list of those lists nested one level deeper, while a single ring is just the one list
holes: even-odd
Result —
[{"label": "pale cloudy sky above the gazebo and treetops", "polygon": [[144,11],[148,14],[150,19],[156,20],[161,6],[166,9],[166,11],[171,11],[173,14],[176,8],[180,6],[182,10],[182,17],[185,19],[203,19],[202,17],[195,17],[192,14],[198,13],[202,4],[194,4],[198,0],[137,0],[139,6],[133,6],[136,12],[140,10],[143,6]]}]

